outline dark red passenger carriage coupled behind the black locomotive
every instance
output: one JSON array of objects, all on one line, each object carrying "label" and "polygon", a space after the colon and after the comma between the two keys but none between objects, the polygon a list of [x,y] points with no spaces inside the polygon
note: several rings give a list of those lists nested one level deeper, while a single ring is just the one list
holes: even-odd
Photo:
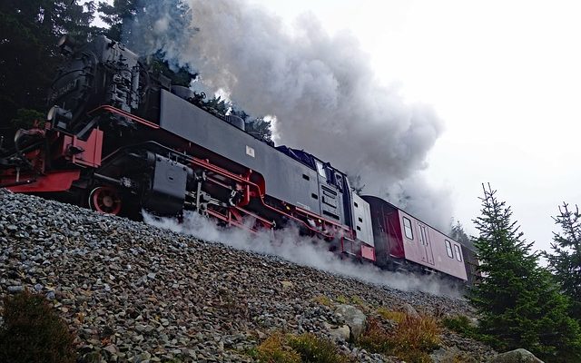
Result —
[{"label": "dark red passenger carriage coupled behind the black locomotive", "polygon": [[444,233],[378,197],[369,202],[377,264],[390,270],[438,271],[467,281],[462,246]]}]

